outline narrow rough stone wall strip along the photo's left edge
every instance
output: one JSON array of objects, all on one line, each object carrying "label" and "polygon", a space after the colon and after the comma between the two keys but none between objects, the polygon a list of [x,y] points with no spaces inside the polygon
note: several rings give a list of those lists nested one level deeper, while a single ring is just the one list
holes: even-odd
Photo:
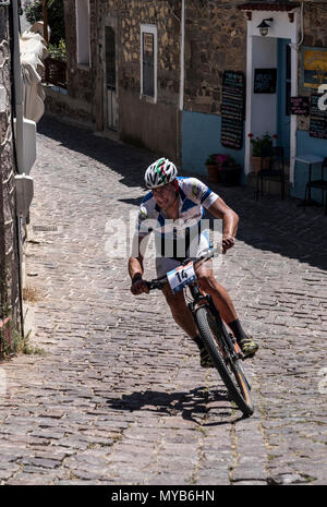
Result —
[{"label": "narrow rough stone wall strip along the photo's left edge", "polygon": [[[20,322],[14,162],[11,117],[11,49],[8,9],[0,9],[0,323]],[[3,329],[3,328],[2,328]],[[0,341],[3,334],[0,335]],[[0,343],[0,353],[1,347]]]}]

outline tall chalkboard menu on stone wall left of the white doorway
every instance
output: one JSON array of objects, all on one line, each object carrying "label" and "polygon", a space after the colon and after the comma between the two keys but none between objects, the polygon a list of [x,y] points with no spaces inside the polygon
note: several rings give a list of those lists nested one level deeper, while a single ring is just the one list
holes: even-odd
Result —
[{"label": "tall chalkboard menu on stone wall left of the white doorway", "polygon": [[245,101],[243,72],[225,71],[222,76],[221,135],[222,146],[242,149]]}]

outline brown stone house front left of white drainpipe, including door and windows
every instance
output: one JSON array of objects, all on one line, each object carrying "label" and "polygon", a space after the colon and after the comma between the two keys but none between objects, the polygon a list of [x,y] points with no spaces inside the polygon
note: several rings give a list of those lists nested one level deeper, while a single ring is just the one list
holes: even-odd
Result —
[{"label": "brown stone house front left of white drainpipe, including door and windows", "polygon": [[181,2],[66,0],[64,9],[68,89],[57,100],[48,92],[48,108],[180,159]]}]

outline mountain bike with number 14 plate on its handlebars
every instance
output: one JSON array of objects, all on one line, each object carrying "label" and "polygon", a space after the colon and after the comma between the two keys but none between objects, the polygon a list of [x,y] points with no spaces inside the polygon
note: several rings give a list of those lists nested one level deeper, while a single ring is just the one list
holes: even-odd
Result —
[{"label": "mountain bike with number 14 plate on its handlebars", "polygon": [[211,297],[201,290],[196,278],[196,268],[219,253],[220,249],[209,249],[199,257],[185,258],[175,269],[146,283],[149,290],[161,290],[165,283],[169,282],[174,293],[189,288],[192,298],[187,306],[208,354],[230,398],[244,415],[251,415],[254,407],[251,385],[242,365],[244,357],[235,338],[228,333]]}]

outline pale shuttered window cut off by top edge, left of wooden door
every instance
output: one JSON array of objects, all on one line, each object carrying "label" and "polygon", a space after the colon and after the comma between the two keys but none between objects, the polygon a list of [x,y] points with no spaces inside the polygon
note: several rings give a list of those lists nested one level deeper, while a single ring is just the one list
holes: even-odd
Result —
[{"label": "pale shuttered window cut off by top edge, left of wooden door", "polygon": [[89,1],[75,0],[77,64],[90,67]]}]

